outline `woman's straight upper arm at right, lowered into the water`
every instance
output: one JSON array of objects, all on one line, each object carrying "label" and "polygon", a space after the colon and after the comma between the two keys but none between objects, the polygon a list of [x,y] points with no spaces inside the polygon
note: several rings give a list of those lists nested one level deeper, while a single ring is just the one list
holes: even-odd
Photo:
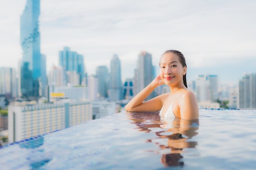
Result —
[{"label": "woman's straight upper arm at right, lowered into the water", "polygon": [[180,118],[185,120],[198,119],[198,102],[192,91],[186,91],[180,102]]}]

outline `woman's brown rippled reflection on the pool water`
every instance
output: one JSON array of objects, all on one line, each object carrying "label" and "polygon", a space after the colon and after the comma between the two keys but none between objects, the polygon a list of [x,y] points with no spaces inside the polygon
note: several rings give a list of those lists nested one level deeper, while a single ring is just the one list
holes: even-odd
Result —
[{"label": "woman's brown rippled reflection on the pool water", "polygon": [[165,167],[183,166],[182,150],[184,148],[195,148],[197,141],[187,141],[195,135],[199,129],[199,120],[184,120],[177,118],[160,117],[156,113],[129,113],[129,119],[136,124],[137,129],[143,132],[155,133],[157,138],[148,139],[159,146],[156,154],[162,154],[161,163]]}]

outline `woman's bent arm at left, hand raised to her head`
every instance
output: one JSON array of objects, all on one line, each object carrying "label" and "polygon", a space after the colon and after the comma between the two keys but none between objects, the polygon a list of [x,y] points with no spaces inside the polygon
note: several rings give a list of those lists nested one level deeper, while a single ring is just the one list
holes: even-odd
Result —
[{"label": "woman's bent arm at left, hand raised to her head", "polygon": [[158,75],[148,86],[139,92],[126,106],[127,111],[132,112],[146,112],[146,111],[159,111],[162,108],[162,97],[166,94],[159,95],[153,99],[143,102],[146,97],[159,85],[164,84]]}]

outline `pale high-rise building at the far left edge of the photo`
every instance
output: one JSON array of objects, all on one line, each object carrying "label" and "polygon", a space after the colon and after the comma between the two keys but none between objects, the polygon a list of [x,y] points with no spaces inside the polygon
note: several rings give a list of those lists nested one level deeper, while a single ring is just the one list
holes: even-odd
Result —
[{"label": "pale high-rise building at the far left edge of the photo", "polygon": [[17,97],[17,79],[16,69],[9,67],[0,68],[0,94],[4,94],[7,98]]}]

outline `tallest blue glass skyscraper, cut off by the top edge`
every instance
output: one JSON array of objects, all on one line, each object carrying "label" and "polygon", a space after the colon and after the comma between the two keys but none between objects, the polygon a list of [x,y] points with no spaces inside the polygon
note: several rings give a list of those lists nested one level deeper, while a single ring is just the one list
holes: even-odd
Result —
[{"label": "tallest blue glass skyscraper, cut off by the top edge", "polygon": [[20,44],[23,51],[20,86],[22,95],[32,99],[38,99],[40,86],[42,87],[46,81],[46,75],[43,75],[45,59],[41,59],[40,53],[39,15],[40,0],[27,0],[20,16]]}]

